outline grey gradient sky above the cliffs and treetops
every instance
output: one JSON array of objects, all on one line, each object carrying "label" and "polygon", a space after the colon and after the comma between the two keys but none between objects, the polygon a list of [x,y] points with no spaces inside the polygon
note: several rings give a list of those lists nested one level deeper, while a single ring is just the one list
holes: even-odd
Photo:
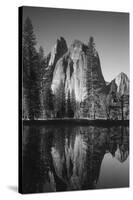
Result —
[{"label": "grey gradient sky above the cliffs and treetops", "polygon": [[111,81],[120,72],[129,77],[129,14],[72,9],[24,7],[23,19],[30,17],[37,39],[47,55],[57,38],[68,47],[78,39],[88,43],[93,36],[103,76]]}]

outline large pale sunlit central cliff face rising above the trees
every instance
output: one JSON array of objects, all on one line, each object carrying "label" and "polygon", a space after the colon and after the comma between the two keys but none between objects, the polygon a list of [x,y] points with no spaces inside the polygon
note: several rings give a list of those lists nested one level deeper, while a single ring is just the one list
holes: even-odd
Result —
[{"label": "large pale sunlit central cliff face rising above the trees", "polygon": [[[64,83],[66,97],[68,92],[75,93],[77,102],[82,102],[87,98],[87,46],[82,42],[75,40],[70,46],[67,53],[65,53],[57,62],[53,73],[52,91],[56,94],[61,82]],[[101,72],[100,61],[98,53],[95,52],[95,68],[93,68],[93,82],[97,88],[105,85],[105,81]],[[90,74],[91,76],[91,74]],[[90,77],[91,85],[91,77]]]}]

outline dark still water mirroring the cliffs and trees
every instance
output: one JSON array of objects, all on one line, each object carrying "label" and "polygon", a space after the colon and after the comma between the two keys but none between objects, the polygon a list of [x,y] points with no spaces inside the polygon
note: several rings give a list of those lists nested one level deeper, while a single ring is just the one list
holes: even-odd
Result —
[{"label": "dark still water mirroring the cliffs and trees", "polygon": [[24,126],[23,193],[129,186],[129,127]]}]

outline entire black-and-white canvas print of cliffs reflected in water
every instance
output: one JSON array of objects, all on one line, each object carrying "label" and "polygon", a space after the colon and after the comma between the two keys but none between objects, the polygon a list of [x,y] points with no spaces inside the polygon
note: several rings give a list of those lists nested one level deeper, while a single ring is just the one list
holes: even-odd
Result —
[{"label": "entire black-and-white canvas print of cliffs reflected in water", "polygon": [[129,187],[129,13],[19,8],[19,192]]}]

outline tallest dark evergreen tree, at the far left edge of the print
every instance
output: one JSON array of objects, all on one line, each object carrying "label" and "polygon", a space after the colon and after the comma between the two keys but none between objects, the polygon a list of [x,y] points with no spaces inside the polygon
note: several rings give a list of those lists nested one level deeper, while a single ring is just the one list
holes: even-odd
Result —
[{"label": "tallest dark evergreen tree, at the far left edge of the print", "polygon": [[40,114],[40,68],[35,45],[36,38],[28,17],[23,28],[23,97],[30,119],[38,118]]}]

